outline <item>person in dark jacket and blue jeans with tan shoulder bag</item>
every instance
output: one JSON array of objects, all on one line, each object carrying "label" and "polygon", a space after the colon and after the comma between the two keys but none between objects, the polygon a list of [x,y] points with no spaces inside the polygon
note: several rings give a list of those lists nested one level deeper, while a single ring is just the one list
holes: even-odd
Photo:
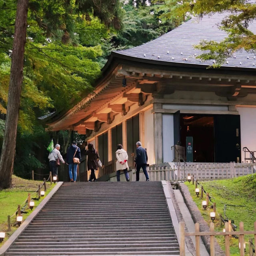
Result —
[{"label": "person in dark jacket and blue jeans with tan shoulder bag", "polygon": [[[73,162],[74,157],[79,158],[79,160],[81,161],[80,148],[78,148],[78,146],[76,146],[75,141],[72,142],[72,145],[68,148],[68,151],[67,151],[67,164],[68,164],[68,171],[69,171],[69,177],[70,177],[71,182],[76,182],[76,177],[77,177],[77,165],[78,164],[74,164],[74,162]],[[73,175],[72,175],[72,169],[74,172],[74,179],[73,179]]]}]

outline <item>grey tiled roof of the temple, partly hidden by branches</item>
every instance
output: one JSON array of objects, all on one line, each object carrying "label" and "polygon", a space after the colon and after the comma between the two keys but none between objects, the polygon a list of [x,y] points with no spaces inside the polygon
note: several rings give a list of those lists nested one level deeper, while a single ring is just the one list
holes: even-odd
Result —
[{"label": "grey tiled roof of the temple, partly hidden by branches", "polygon": [[[254,2],[254,0],[253,0]],[[201,50],[195,49],[201,40],[214,40],[220,42],[227,34],[219,29],[223,18],[230,12],[206,15],[203,18],[192,18],[178,28],[160,36],[150,42],[134,48],[114,51],[118,56],[130,56],[142,62],[155,60],[160,62],[186,63],[196,65],[212,65],[213,60],[201,62],[196,56],[202,54]],[[256,34],[256,20],[250,23],[249,29]],[[239,50],[228,58],[225,67],[256,68],[256,53]]]}]

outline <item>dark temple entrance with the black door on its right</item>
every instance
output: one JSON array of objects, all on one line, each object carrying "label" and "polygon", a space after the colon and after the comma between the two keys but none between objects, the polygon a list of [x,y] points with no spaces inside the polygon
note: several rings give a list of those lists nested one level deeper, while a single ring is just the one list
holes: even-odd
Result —
[{"label": "dark temple entrance with the black door on its right", "polygon": [[180,145],[193,137],[194,162],[240,162],[239,115],[180,115]]}]

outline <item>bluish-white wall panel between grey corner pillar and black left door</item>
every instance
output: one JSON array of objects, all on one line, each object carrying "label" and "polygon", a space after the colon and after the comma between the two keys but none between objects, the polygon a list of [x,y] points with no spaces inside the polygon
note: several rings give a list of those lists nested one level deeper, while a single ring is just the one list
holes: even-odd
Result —
[{"label": "bluish-white wall panel between grey corner pillar and black left door", "polygon": [[164,162],[172,162],[171,146],[174,145],[173,114],[163,114],[163,156]]}]

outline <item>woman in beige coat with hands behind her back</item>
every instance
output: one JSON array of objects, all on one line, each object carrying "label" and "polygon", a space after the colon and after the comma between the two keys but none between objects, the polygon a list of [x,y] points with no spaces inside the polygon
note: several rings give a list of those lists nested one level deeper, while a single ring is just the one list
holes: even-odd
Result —
[{"label": "woman in beige coat with hands behind her back", "polygon": [[128,154],[127,152],[123,149],[123,146],[121,144],[117,145],[116,149],[116,180],[120,181],[120,171],[124,171],[124,175],[126,178],[126,181],[130,181],[129,178],[129,166],[128,166]]}]

